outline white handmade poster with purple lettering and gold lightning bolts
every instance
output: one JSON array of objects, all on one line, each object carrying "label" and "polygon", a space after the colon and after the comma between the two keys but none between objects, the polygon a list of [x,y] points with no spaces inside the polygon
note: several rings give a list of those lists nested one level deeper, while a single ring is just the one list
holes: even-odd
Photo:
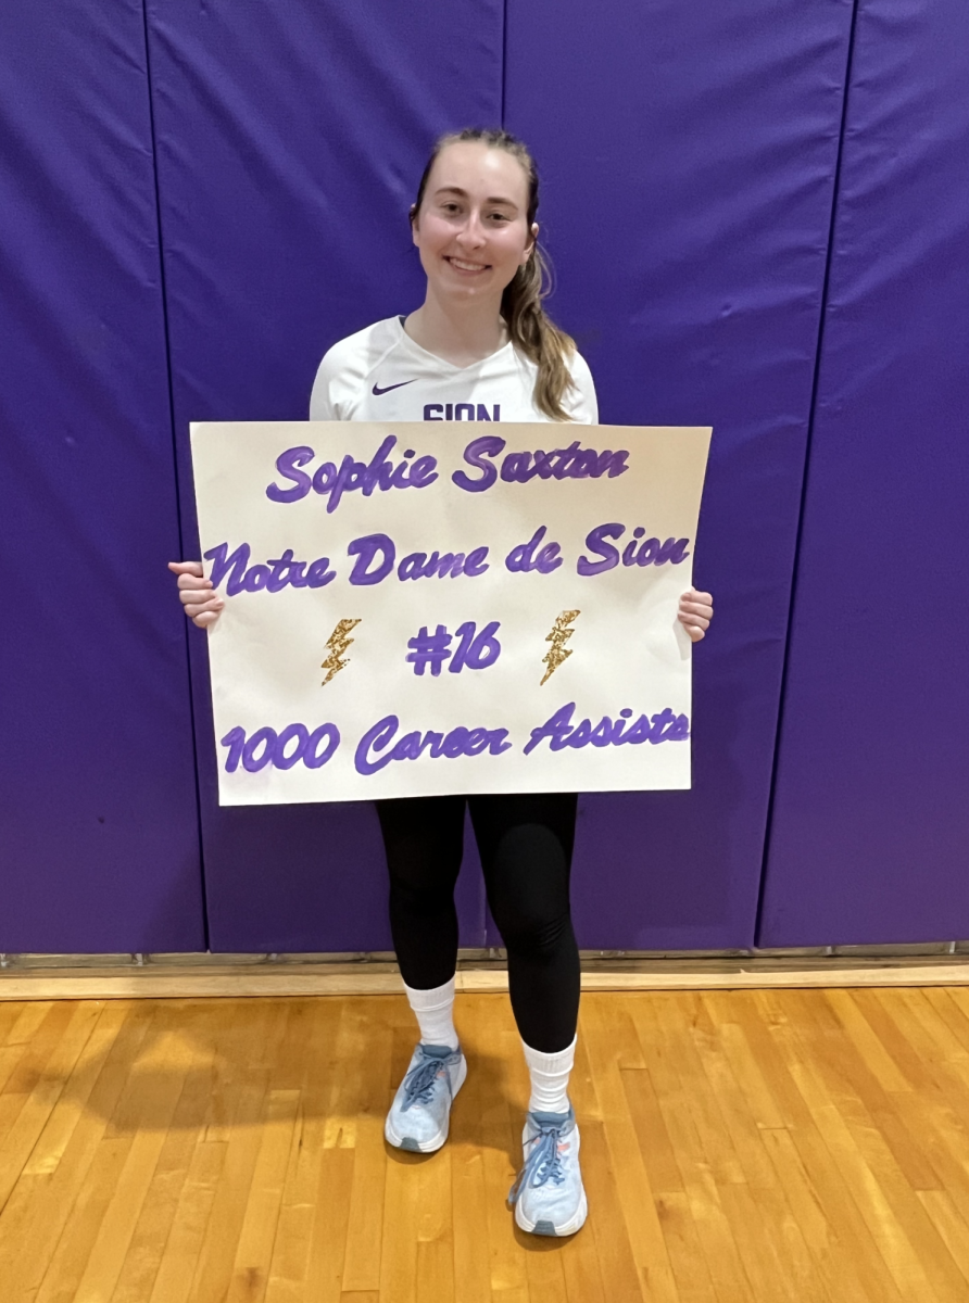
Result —
[{"label": "white handmade poster with purple lettering and gold lightning bolts", "polygon": [[198,423],[223,805],[690,786],[708,429]]}]

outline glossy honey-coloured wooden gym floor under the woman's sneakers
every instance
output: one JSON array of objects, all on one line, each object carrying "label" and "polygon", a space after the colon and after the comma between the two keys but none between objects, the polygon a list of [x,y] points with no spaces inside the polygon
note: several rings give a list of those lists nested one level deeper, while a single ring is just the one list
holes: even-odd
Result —
[{"label": "glossy honey-coloured wooden gym floor under the woman's sneakers", "polygon": [[507,998],[458,1023],[420,1157],[382,1138],[402,997],[0,1005],[3,1303],[969,1299],[969,990],[586,994],[567,1242],[505,1208]]}]

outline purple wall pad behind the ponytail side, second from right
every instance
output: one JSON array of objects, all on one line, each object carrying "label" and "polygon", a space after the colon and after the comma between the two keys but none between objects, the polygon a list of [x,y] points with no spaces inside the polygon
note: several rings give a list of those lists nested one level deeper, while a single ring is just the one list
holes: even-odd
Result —
[{"label": "purple wall pad behind the ponytail side, second from right", "polygon": [[[713,425],[694,787],[588,796],[584,947],[754,939],[848,0],[510,0],[506,125],[545,185],[553,311],[604,421]],[[630,702],[630,705],[635,705]]]}]

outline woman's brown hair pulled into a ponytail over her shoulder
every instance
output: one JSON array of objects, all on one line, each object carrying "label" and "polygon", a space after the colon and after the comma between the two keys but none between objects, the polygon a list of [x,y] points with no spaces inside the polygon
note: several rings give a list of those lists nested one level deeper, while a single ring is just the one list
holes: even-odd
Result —
[{"label": "woman's brown hair pulled into a ponytail over her shoulder", "polygon": [[[428,177],[438,154],[449,145],[460,145],[466,141],[480,142],[492,150],[505,150],[522,164],[528,181],[527,223],[531,232],[535,214],[539,211],[539,173],[535,159],[522,141],[509,132],[480,126],[468,126],[463,132],[442,136],[434,145],[417,186],[417,198],[411,205],[411,224],[417,219]],[[566,358],[575,352],[575,341],[549,321],[541,306],[550,288],[549,263],[536,241],[528,262],[518,268],[514,279],[505,287],[505,293],[501,296],[501,315],[507,324],[511,343],[539,367],[535,379],[535,405],[553,421],[569,421],[571,418],[562,405],[562,399],[573,384]]]}]

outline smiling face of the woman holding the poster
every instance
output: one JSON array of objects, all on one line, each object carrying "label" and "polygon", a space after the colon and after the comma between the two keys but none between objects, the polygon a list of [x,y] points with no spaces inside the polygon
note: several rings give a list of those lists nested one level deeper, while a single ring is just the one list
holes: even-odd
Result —
[{"label": "smiling face of the woman holding the poster", "polygon": [[528,179],[506,150],[479,141],[446,145],[434,159],[411,223],[413,242],[441,300],[494,298],[535,248]]}]

